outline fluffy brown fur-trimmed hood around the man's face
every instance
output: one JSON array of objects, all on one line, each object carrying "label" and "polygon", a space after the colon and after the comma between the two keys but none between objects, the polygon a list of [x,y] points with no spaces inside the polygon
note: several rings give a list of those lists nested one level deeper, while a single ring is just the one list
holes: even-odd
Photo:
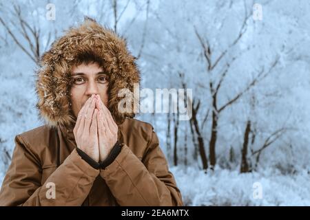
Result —
[{"label": "fluffy brown fur-trimmed hood around the man's face", "polygon": [[136,58],[127,50],[125,39],[96,21],[85,19],[81,25],[70,28],[54,41],[41,57],[41,67],[37,72],[37,108],[46,124],[70,126],[75,123],[70,103],[70,74],[74,59],[83,52],[99,56],[110,74],[108,109],[116,123],[121,124],[126,117],[133,118],[134,113],[118,112],[118,102],[122,97],[117,95],[123,88],[133,92],[134,83],[140,83]]}]

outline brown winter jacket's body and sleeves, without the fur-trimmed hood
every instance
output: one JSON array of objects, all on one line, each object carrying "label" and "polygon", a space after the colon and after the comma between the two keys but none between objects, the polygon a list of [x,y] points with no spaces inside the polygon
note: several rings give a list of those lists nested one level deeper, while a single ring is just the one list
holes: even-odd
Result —
[{"label": "brown winter jacket's body and sleeves, without the fur-trimmed hood", "polygon": [[[40,126],[15,138],[12,163],[0,192],[1,206],[182,206],[158,137],[150,124],[126,119],[118,126],[123,147],[104,170],[76,153],[72,132]],[[57,167],[57,160],[60,166]],[[48,199],[49,182],[55,199]]]}]

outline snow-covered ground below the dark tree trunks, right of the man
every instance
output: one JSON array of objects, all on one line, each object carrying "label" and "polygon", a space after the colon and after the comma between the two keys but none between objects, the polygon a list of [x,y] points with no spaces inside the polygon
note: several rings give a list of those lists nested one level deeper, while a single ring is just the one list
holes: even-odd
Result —
[{"label": "snow-covered ground below the dark tree trunks, right of the man", "polygon": [[[240,174],[221,169],[205,174],[196,168],[175,166],[170,170],[185,206],[310,206],[307,170],[297,175],[281,175],[276,170]],[[258,185],[262,186],[261,199],[256,197]]]}]

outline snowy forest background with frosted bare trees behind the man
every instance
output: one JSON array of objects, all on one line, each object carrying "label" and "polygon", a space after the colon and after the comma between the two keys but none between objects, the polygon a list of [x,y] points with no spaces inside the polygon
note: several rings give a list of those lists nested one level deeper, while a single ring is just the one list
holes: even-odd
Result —
[{"label": "snowy forest background with frosted bare trees behind the man", "polygon": [[191,120],[137,117],[154,126],[185,205],[310,206],[309,11],[307,0],[1,0],[0,181],[15,135],[43,124],[39,56],[88,16],[127,38],[141,88],[193,89]]}]

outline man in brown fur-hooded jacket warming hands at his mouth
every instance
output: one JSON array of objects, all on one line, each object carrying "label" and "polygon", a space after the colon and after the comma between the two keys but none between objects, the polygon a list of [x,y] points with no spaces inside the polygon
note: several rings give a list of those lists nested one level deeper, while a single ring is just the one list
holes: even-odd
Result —
[{"label": "man in brown fur-hooded jacket warming hands at his mouth", "polygon": [[90,19],[41,58],[46,124],[15,138],[1,206],[182,206],[150,124],[118,111],[140,82],[124,39]]}]

